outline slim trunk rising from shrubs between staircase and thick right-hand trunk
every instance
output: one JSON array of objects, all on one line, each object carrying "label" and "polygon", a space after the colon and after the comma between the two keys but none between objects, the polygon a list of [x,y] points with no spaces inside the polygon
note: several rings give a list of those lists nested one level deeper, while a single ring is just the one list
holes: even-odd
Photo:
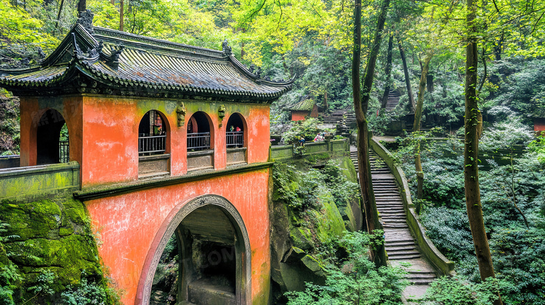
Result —
[{"label": "slim trunk rising from shrubs between staircase and thick right-hand trunk", "polygon": [[[422,66],[422,72],[419,82],[419,98],[416,101],[416,110],[414,112],[414,124],[412,126],[413,131],[420,131],[420,125],[422,121],[422,108],[424,105],[424,91],[426,91],[426,80],[428,79],[428,70],[430,70],[430,61],[433,54],[428,53]],[[416,214],[420,214],[421,202],[423,198],[423,185],[424,185],[424,172],[422,170],[422,163],[420,159],[420,140],[416,141],[416,147],[414,148],[414,168],[416,169],[416,180],[418,181],[418,187],[416,191],[416,198],[419,199],[416,202]]]}]

